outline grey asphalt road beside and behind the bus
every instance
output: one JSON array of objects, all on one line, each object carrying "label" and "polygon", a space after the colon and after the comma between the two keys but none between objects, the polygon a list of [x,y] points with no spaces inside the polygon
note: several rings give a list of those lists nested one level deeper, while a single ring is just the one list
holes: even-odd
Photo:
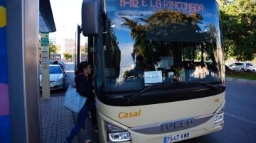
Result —
[{"label": "grey asphalt road beside and behind the bus", "polygon": [[[66,87],[73,84],[73,64],[67,64]],[[51,96],[64,96],[65,91],[51,91]],[[225,124],[223,130],[181,143],[256,142],[256,86],[227,83]]]}]

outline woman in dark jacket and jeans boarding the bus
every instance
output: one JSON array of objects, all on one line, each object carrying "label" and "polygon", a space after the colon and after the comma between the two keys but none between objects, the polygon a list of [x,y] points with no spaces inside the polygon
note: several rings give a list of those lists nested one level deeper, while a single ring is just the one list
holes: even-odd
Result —
[{"label": "woman in dark jacket and jeans boarding the bus", "polygon": [[[66,139],[65,143],[71,143],[72,140],[78,135],[82,125],[87,118],[88,111],[92,112],[92,118],[95,118],[95,97],[94,93],[92,92],[93,87],[88,81],[88,76],[92,73],[92,67],[88,62],[81,62],[78,67],[78,71],[76,71],[75,76],[75,88],[80,96],[84,96],[87,98],[85,105],[82,107],[80,112],[78,113],[77,122],[75,123],[75,127],[70,132],[70,135]],[[95,121],[95,119],[92,119]]]}]

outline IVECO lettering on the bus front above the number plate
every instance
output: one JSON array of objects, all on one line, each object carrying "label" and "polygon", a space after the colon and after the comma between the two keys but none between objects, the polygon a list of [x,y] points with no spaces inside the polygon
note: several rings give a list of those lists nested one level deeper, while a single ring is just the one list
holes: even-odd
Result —
[{"label": "IVECO lettering on the bus front above the number plate", "polygon": [[176,122],[166,122],[161,124],[161,130],[178,130],[181,128],[191,127],[193,126],[195,119],[187,119],[187,120],[179,120]]}]

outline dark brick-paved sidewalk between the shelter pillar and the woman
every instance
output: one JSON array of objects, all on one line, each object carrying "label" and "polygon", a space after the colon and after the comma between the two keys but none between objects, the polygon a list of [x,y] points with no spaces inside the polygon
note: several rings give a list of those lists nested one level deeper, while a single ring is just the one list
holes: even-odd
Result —
[{"label": "dark brick-paved sidewalk between the shelter pillar and the woman", "polygon": [[[63,108],[63,97],[41,99],[41,127],[43,143],[63,143],[74,127],[73,115]],[[74,139],[77,143],[77,140]]]}]

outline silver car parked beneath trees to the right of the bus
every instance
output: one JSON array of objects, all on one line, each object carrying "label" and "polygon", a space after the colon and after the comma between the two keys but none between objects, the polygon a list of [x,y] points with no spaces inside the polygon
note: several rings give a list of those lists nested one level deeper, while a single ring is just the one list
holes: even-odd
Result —
[{"label": "silver car parked beneath trees to the right of the bus", "polygon": [[236,62],[234,64],[231,64],[230,67],[233,68],[235,71],[255,71],[255,68],[252,63],[245,63],[245,62]]}]

